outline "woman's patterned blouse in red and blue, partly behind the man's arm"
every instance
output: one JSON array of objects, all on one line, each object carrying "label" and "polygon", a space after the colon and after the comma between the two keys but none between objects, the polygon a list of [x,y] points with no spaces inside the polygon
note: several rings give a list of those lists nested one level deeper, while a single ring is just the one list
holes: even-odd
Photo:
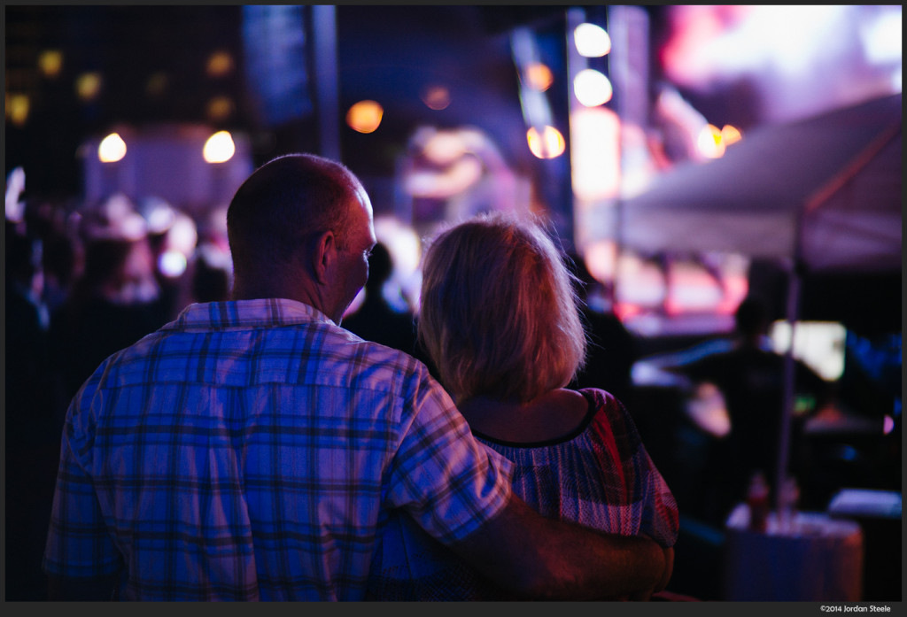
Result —
[{"label": "woman's patterned blouse in red and blue, partly behind the man's arm", "polygon": [[[609,392],[580,390],[589,413],[560,439],[509,443],[475,436],[513,462],[513,493],[542,515],[620,535],[649,535],[662,546],[678,537],[674,496],[639,439],[629,413]],[[506,594],[395,513],[375,554],[366,599],[501,600]]]}]

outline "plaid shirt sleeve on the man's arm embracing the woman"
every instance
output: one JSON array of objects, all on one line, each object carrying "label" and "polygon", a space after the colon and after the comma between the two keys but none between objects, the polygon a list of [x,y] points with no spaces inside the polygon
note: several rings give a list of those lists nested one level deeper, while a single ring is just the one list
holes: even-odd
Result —
[{"label": "plaid shirt sleeve on the man's arm embracing the woman", "polygon": [[511,495],[512,463],[473,438],[453,400],[427,371],[407,387],[411,407],[389,469],[387,498],[429,535],[451,544],[497,515]]}]

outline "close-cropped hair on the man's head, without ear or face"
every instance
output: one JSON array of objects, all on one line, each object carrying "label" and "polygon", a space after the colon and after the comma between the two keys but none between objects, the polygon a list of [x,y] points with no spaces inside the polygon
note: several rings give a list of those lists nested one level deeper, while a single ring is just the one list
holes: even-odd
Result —
[{"label": "close-cropped hair on the man's head, without ear or face", "polygon": [[258,168],[227,210],[236,281],[287,274],[300,248],[333,230],[346,242],[349,204],[359,187],[343,165],[311,154],[288,154]]}]

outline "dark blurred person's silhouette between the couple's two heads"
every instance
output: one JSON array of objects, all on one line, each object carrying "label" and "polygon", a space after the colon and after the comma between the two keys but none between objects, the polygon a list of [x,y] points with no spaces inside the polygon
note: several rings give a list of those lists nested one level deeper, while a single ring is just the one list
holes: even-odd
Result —
[{"label": "dark blurred person's silhouette between the couple's two heads", "polygon": [[415,351],[413,315],[398,313],[385,300],[385,284],[394,273],[390,251],[377,243],[368,255],[366,298],[356,313],[346,315],[343,327],[366,341],[378,342],[412,355]]}]

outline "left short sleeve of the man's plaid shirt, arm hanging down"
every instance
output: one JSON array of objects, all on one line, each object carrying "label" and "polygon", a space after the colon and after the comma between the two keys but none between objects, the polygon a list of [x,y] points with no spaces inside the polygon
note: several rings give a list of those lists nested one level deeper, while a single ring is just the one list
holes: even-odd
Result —
[{"label": "left short sleeve of the man's plaid shirt, arm hanging down", "polygon": [[51,511],[44,570],[67,577],[103,577],[119,572],[122,557],[102,516],[92,477],[86,472],[96,421],[83,403],[90,400],[99,373],[83,386],[66,413]]}]

